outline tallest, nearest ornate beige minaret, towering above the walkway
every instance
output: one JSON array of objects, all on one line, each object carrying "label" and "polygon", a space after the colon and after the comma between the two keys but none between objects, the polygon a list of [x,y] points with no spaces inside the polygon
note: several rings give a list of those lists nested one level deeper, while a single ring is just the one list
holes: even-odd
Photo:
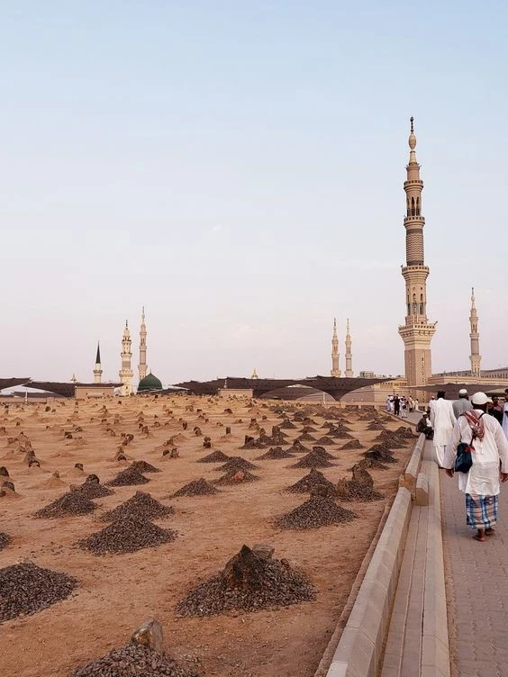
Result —
[{"label": "tallest, nearest ornate beige minaret, towering above the walkway", "polygon": [[405,324],[399,327],[404,341],[405,377],[409,386],[426,385],[431,376],[431,339],[435,322],[427,320],[427,277],[429,268],[423,257],[422,190],[420,165],[416,161],[416,137],[411,118],[409,135],[409,165],[404,181],[407,213],[404,217],[406,265],[402,268],[405,280]]}]

